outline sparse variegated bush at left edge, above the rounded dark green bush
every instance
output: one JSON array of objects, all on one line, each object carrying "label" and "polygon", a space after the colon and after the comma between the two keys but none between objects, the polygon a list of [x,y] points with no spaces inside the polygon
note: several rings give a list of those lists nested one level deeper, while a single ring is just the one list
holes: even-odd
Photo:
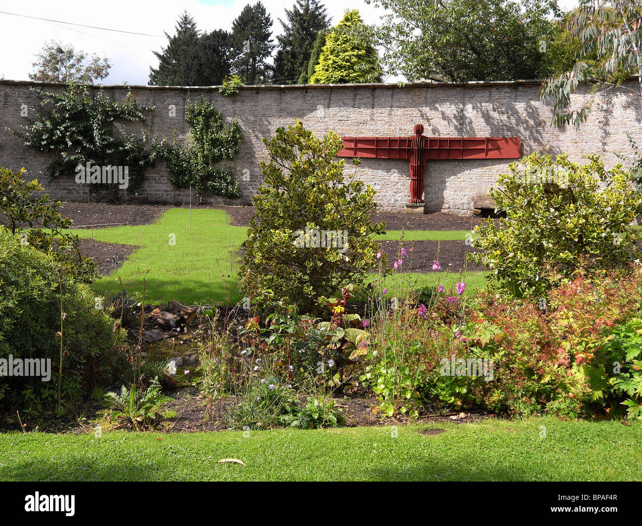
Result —
[{"label": "sparse variegated bush at left edge, above the rounded dark green bush", "polygon": [[[13,173],[0,167],[1,223],[12,234],[19,233],[23,244],[52,254],[65,274],[92,283],[98,276],[96,263],[80,253],[82,241],[78,236],[64,232],[72,221],[60,216],[60,201],[52,202],[48,194],[34,195],[44,188],[37,179],[25,181],[24,173],[24,168]],[[26,227],[29,229],[23,230]]]}]

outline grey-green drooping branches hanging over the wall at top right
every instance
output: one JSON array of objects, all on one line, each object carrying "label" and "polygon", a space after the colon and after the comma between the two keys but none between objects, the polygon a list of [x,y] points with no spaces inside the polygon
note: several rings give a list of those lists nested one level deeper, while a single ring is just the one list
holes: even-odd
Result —
[{"label": "grey-green drooping branches hanging over the wall at top right", "polygon": [[[553,100],[553,124],[579,128],[591,113],[596,96],[618,88],[629,76],[638,78],[634,90],[622,89],[642,100],[642,4],[639,0],[580,0],[580,8],[566,22],[577,39],[573,68],[542,82],[540,97]],[[590,95],[573,105],[571,95],[580,85],[592,86]]]}]

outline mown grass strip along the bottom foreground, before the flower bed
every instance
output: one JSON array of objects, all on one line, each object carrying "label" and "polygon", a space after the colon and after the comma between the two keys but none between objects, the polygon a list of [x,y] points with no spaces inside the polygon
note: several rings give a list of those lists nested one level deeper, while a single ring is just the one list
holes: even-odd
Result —
[{"label": "mown grass strip along the bottom foreground, before the flower bed", "polygon": [[[426,427],[446,432],[418,432]],[[392,430],[5,434],[0,480],[642,480],[639,423],[546,418]],[[218,463],[230,457],[246,466]]]}]

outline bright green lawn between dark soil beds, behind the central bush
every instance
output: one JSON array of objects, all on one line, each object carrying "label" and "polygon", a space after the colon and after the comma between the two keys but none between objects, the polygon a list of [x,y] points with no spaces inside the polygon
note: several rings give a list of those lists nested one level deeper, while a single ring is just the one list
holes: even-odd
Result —
[{"label": "bright green lawn between dark soil beds, behind the central bush", "polygon": [[[166,211],[153,225],[125,226],[108,229],[74,229],[82,238],[110,243],[137,245],[139,248],[128,257],[116,272],[104,276],[92,285],[97,294],[111,296],[120,290],[118,278],[130,294],[141,294],[143,277],[146,278],[146,302],[162,303],[175,299],[186,304],[214,304],[225,302],[227,297],[238,301],[236,290],[239,261],[232,257],[245,240],[247,228],[227,224],[225,211],[193,209],[191,233],[189,210],[173,208]],[[405,231],[404,240],[463,240],[469,231]],[[175,245],[170,245],[170,234],[175,235]],[[401,238],[401,231],[389,231],[381,239]],[[141,247],[141,241],[143,246]],[[149,272],[147,270],[149,269]],[[224,279],[223,279],[224,276]],[[229,276],[229,277],[228,277]],[[403,276],[403,277],[402,277]],[[403,280],[418,286],[437,284],[445,280],[446,288],[454,286],[458,277],[444,274],[412,273],[386,278],[392,292],[399,289]],[[469,291],[484,286],[481,272],[469,273],[466,283]]]}]

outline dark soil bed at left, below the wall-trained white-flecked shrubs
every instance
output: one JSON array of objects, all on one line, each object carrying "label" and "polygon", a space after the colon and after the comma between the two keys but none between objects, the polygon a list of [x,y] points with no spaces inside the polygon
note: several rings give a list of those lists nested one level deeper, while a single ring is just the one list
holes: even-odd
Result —
[{"label": "dark soil bed at left, below the wall-trained white-flecked shrubs", "polygon": [[[60,215],[73,220],[74,228],[108,228],[122,225],[150,225],[171,207],[152,204],[104,204],[65,202]],[[95,225],[102,225],[97,227]]]}]

